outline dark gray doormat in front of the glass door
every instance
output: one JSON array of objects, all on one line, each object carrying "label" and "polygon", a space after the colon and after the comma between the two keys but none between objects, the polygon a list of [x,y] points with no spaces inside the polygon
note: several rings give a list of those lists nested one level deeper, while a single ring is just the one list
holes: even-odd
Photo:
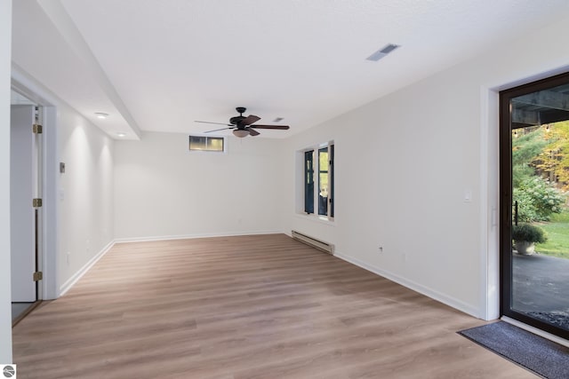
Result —
[{"label": "dark gray doormat in front of the glass door", "polygon": [[569,378],[569,348],[499,321],[458,332],[505,359],[548,379]]}]

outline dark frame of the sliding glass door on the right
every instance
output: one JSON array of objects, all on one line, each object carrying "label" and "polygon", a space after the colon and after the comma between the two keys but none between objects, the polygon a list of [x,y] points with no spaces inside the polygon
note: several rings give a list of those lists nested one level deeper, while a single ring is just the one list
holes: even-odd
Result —
[{"label": "dark frame of the sliding glass door on the right", "polygon": [[510,126],[510,99],[534,91],[547,90],[569,83],[569,72],[525,83],[500,91],[500,313],[509,319],[517,320],[533,328],[538,328],[554,336],[569,339],[569,331],[549,323],[529,317],[511,309],[512,291],[512,134]]}]

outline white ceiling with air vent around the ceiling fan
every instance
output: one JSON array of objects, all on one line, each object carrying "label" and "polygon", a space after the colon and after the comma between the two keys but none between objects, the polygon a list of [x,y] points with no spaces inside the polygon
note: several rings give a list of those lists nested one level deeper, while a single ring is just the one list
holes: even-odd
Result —
[{"label": "white ceiling with air vent around the ceiling fan", "polygon": [[[18,0],[13,12],[16,67],[114,138],[201,133],[215,125],[194,120],[228,122],[235,107],[284,117],[290,130],[260,130],[278,138],[567,17],[569,2]],[[365,59],[387,43],[401,47]]]}]

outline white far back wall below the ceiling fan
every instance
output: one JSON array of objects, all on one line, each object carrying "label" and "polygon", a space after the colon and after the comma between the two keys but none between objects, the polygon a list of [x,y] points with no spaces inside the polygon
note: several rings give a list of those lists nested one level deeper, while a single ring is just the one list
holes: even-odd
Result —
[{"label": "white far back wall below the ceiling fan", "polygon": [[116,141],[115,234],[145,240],[281,230],[281,141],[229,137],[227,154],[188,152],[188,135]]}]

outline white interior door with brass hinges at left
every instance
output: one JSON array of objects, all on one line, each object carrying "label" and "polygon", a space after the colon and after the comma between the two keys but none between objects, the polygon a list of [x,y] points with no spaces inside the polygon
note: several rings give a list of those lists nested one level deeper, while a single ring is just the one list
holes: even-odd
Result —
[{"label": "white interior door with brass hinges at left", "polygon": [[35,302],[36,152],[32,125],[36,107],[12,106],[10,161],[10,218],[12,257],[12,302]]}]

